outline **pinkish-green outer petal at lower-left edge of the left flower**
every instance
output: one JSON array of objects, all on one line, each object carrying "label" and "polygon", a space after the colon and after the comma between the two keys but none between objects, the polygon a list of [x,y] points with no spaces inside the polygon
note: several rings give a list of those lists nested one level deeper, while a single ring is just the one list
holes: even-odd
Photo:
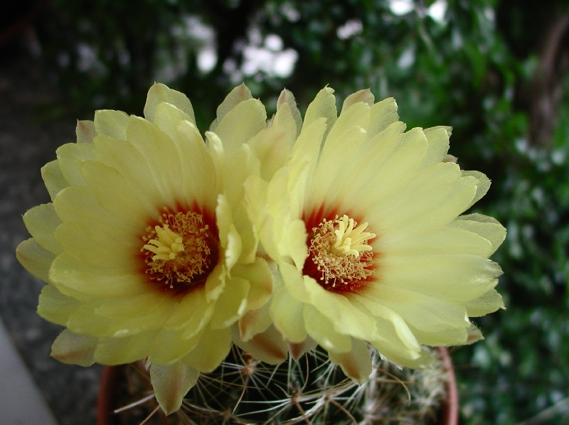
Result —
[{"label": "pinkish-green outer petal at lower-left edge of the left flower", "polygon": [[51,357],[62,363],[90,366],[95,363],[97,338],[88,335],[77,335],[70,330],[63,330],[51,345]]}]

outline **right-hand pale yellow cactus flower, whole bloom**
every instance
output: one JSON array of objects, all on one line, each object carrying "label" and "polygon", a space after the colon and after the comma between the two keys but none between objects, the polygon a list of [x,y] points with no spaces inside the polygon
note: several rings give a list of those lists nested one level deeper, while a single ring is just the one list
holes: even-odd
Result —
[{"label": "right-hand pale yellow cactus flower, whole bloom", "polygon": [[482,338],[469,317],[503,307],[489,256],[506,232],[491,217],[461,215],[489,179],[447,156],[449,136],[448,127],[405,131],[395,100],[375,103],[369,90],[346,98],[338,116],[326,87],[285,166],[250,184],[262,247],[278,265],[270,320],[293,355],[317,343],[365,382],[370,345],[424,367],[422,346]]}]

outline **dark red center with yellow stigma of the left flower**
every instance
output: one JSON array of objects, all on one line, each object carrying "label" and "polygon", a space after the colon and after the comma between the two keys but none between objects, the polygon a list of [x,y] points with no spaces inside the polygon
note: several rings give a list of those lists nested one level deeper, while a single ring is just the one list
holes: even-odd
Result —
[{"label": "dark red center with yellow stigma of the left flower", "polygon": [[218,261],[218,241],[198,212],[170,212],[146,229],[144,273],[161,289],[186,293],[206,283]]}]

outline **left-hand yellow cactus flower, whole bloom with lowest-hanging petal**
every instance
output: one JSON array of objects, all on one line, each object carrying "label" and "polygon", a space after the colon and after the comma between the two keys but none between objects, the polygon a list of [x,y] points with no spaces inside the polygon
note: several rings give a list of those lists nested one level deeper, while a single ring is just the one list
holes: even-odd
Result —
[{"label": "left-hand yellow cactus flower, whole bloom with lowest-hanging petal", "polygon": [[260,173],[245,141],[266,127],[260,102],[235,100],[246,92],[218,109],[207,143],[188,98],[164,85],[149,90],[145,118],[97,111],[42,169],[53,202],[24,215],[33,238],[18,259],[48,283],[38,313],[66,328],[53,357],[147,358],[166,413],[272,291],[243,203],[245,179]]}]

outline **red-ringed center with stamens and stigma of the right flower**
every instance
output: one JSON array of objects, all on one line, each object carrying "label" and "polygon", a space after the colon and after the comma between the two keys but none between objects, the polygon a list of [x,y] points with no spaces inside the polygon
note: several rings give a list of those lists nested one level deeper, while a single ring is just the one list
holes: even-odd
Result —
[{"label": "red-ringed center with stamens and stigma of the right flower", "polygon": [[328,291],[361,289],[373,274],[373,249],[367,242],[376,235],[366,232],[367,227],[347,215],[321,220],[312,228],[303,273]]}]

